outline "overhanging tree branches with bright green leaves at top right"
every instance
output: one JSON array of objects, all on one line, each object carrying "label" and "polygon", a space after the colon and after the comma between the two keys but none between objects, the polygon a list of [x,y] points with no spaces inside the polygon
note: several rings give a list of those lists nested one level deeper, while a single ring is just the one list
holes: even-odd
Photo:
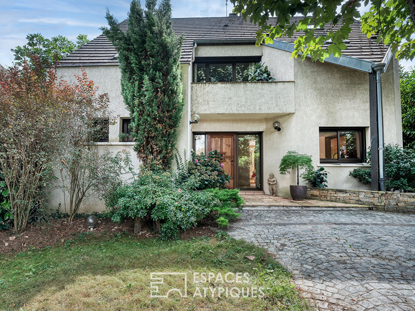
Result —
[{"label": "overhanging tree branches with bright green leaves at top right", "polygon": [[[376,41],[391,46],[398,59],[415,56],[414,20],[415,4],[411,0],[231,0],[233,12],[245,20],[259,25],[256,45],[272,43],[273,39],[304,34],[295,39],[291,57],[309,54],[313,61],[324,61],[333,54],[339,57],[352,32],[351,25],[360,19],[361,31]],[[361,5],[370,5],[369,11],[360,15]],[[277,17],[275,24],[269,17]],[[297,17],[291,19],[291,17]],[[290,20],[291,19],[291,20]],[[412,36],[412,37],[411,37]],[[328,46],[323,47],[324,44]]]}]

